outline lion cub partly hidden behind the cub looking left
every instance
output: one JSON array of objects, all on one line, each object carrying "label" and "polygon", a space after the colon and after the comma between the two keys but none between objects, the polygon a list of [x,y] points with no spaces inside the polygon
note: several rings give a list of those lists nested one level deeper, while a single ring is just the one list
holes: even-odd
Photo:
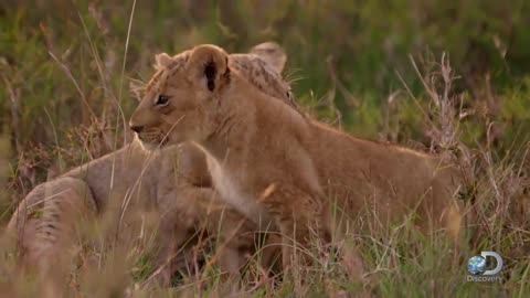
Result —
[{"label": "lion cub partly hidden behind the cub looking left", "polygon": [[[166,54],[158,55],[156,67],[165,68],[172,61]],[[250,84],[294,105],[290,86],[280,75],[286,55],[279,45],[256,45],[251,53],[233,54],[231,62]],[[110,213],[109,217],[119,219],[131,213],[131,205],[140,205],[158,214],[156,244],[160,247],[153,263],[163,268],[157,277],[162,284],[169,283],[172,273],[184,269],[184,257],[191,251],[184,244],[205,222],[214,225],[209,228],[213,234],[221,232],[215,236],[225,246],[220,257],[222,269],[235,273],[245,262],[243,253],[255,253],[253,234],[245,232],[257,227],[224,202],[211,204],[215,196],[204,155],[197,147],[167,147],[151,155],[135,140],[35,187],[19,204],[7,231],[15,234],[22,263],[45,273],[56,267],[59,256],[66,255],[81,217]],[[124,231],[116,233],[127,238]],[[275,251],[264,251],[264,264]]]}]

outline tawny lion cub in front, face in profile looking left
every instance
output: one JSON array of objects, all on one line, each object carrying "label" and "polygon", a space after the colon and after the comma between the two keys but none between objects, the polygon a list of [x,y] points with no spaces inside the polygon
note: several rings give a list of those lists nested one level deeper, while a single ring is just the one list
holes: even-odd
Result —
[{"label": "tawny lion cub in front, face in profile looking left", "polygon": [[[130,118],[147,147],[192,141],[222,199],[283,235],[284,268],[311,234],[341,237],[377,214],[385,225],[416,212],[425,228],[456,237],[455,170],[437,157],[354,138],[297,113],[250,84],[215,45],[199,45],[159,71]],[[338,215],[338,210],[342,211]]]}]

